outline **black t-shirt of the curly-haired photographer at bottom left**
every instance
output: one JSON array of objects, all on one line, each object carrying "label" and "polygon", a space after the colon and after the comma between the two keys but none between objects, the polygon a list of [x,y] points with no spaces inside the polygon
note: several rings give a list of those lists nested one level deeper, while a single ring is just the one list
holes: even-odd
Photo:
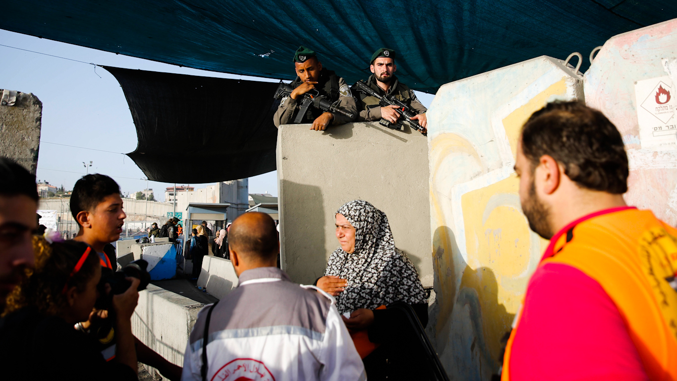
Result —
[{"label": "black t-shirt of the curly-haired photographer at bottom left", "polygon": [[0,320],[0,369],[4,380],[138,380],[127,365],[106,362],[89,336],[32,306]]}]

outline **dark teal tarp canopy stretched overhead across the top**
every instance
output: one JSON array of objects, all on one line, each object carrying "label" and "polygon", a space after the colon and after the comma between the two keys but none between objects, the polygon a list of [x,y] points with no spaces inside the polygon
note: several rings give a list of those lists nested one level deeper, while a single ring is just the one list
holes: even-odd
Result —
[{"label": "dark teal tarp canopy stretched overhead across the top", "polygon": [[401,81],[434,93],[536,56],[586,57],[613,35],[672,18],[675,0],[21,0],[3,2],[0,28],[278,79],[295,77],[292,55],[305,45],[349,83],[391,47]]}]

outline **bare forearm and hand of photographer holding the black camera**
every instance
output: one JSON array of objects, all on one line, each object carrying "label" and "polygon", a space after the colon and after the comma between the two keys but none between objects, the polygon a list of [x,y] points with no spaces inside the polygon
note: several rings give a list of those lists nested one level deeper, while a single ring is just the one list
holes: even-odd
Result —
[{"label": "bare forearm and hand of photographer holding the black camera", "polygon": [[134,348],[134,336],[131,333],[131,315],[134,313],[139,302],[139,279],[125,278],[131,282],[131,285],[123,294],[113,296],[113,309],[115,310],[115,325],[117,334],[117,344],[115,348],[115,358],[118,363],[128,365],[137,372],[138,363],[136,359],[136,350]]}]

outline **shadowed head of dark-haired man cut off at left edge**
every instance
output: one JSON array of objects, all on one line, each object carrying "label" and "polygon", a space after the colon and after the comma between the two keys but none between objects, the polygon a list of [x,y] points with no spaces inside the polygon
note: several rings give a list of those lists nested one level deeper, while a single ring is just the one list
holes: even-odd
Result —
[{"label": "shadowed head of dark-haired man cut off at left edge", "polygon": [[0,311],[5,298],[35,263],[31,236],[37,229],[35,176],[0,157]]}]

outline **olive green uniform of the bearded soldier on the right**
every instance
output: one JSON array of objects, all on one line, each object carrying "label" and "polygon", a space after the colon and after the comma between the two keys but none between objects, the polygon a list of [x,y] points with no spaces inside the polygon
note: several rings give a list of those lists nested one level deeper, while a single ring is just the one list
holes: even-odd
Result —
[{"label": "olive green uniform of the bearded soldier on the right", "polygon": [[[367,80],[367,85],[374,89],[376,93],[380,96],[395,96],[397,100],[408,104],[411,108],[414,108],[417,114],[423,114],[428,111],[421,102],[416,98],[414,90],[410,89],[407,85],[400,83],[397,77],[393,75],[392,85],[388,89],[388,92],[384,92],[383,89],[378,87],[376,83],[376,76],[371,75]],[[380,115],[380,105],[378,104],[378,99],[373,96],[367,96],[361,92],[359,94],[359,100],[357,100],[357,109],[359,110],[359,115],[357,115],[357,121],[379,121],[381,119]]]}]

